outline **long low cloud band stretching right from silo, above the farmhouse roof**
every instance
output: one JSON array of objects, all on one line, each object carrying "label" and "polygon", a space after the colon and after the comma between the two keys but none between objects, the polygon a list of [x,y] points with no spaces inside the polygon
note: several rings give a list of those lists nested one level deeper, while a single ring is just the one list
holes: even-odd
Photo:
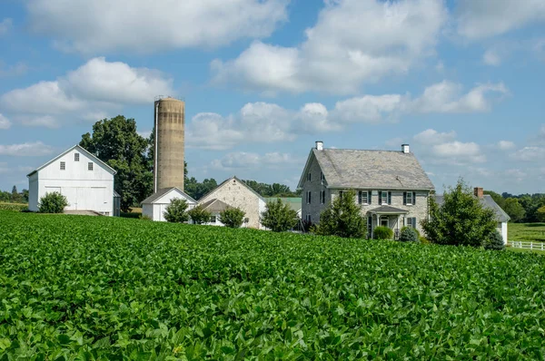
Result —
[{"label": "long low cloud band stretching right from silo, above the farmhouse roof", "polygon": [[[486,112],[491,106],[488,93],[506,92],[503,84],[488,84],[461,93],[461,85],[442,82],[426,88],[414,99],[410,94],[364,95],[337,102],[331,111],[319,102],[306,103],[298,111],[273,103],[253,102],[228,116],[211,112],[196,114],[187,125],[187,140],[191,147],[211,150],[233,148],[241,142],[294,141],[296,134],[338,132],[356,122],[392,122],[403,114]],[[444,142],[456,135],[426,132],[418,137],[434,137]]]}]

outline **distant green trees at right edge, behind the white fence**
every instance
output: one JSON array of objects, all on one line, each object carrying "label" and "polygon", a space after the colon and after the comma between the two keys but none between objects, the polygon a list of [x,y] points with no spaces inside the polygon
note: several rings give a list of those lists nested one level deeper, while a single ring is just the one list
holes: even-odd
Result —
[{"label": "distant green trees at right edge, behind the white fence", "polygon": [[512,222],[545,222],[545,194],[513,195],[507,192],[499,194],[492,190],[485,190],[484,193],[490,194],[490,197],[510,216]]}]

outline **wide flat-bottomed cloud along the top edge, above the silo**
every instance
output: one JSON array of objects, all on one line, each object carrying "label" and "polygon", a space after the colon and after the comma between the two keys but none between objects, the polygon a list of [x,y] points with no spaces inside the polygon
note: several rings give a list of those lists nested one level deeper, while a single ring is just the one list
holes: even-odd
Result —
[{"label": "wide flat-bottomed cloud along the top edge, above the silo", "polygon": [[29,23],[85,54],[216,47],[272,34],[288,0],[29,0]]}]

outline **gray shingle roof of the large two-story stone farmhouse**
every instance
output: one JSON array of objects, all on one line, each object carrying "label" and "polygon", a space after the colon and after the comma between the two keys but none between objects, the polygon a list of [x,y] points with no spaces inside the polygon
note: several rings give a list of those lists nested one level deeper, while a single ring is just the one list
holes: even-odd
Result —
[{"label": "gray shingle roof of the large two-story stone farmhouse", "polygon": [[312,150],[330,188],[433,190],[413,153]]}]

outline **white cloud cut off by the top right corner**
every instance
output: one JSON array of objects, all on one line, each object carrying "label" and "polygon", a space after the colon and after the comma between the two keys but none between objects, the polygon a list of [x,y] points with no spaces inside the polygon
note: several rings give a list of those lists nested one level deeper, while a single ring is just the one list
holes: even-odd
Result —
[{"label": "white cloud cut off by the top right corner", "polygon": [[458,33],[475,40],[545,21],[542,0],[460,0]]}]

